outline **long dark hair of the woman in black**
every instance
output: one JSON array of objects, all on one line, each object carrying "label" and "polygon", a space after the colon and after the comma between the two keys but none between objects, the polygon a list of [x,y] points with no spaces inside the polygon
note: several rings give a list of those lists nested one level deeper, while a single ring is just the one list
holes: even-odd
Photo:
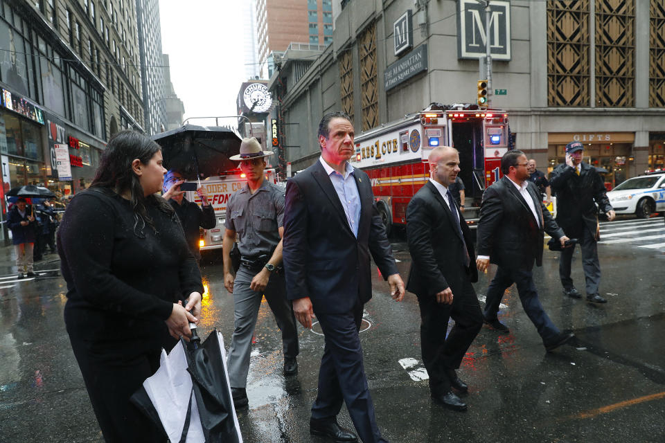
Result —
[{"label": "long dark hair of the woman in black", "polygon": [[134,233],[143,237],[143,228],[149,224],[155,232],[152,218],[146,205],[156,206],[161,212],[173,216],[174,210],[166,200],[152,194],[145,197],[139,177],[132,170],[132,162],[139,159],[147,165],[161,147],[147,136],[136,131],[122,131],[112,136],[102,154],[91,188],[113,190],[118,194],[129,190],[130,202],[134,209]]}]

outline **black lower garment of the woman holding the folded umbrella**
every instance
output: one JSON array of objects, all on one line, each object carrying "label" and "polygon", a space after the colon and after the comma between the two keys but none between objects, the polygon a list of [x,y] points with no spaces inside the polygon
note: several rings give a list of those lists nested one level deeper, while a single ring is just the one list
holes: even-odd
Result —
[{"label": "black lower garment of the woman holding the folded umbrella", "polygon": [[69,335],[92,408],[109,443],[166,443],[167,437],[130,403],[143,381],[159,368],[161,349],[154,352],[123,352],[132,343],[104,345]]}]

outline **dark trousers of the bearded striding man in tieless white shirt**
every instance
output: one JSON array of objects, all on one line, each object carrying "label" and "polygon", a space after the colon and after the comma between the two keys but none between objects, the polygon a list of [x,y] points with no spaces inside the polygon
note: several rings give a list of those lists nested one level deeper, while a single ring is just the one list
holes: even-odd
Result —
[{"label": "dark trousers of the bearded striding man in tieless white shirt", "polygon": [[497,267],[497,274],[487,289],[485,310],[483,312],[486,320],[497,318],[499,304],[504,296],[504,292],[513,283],[517,284],[517,293],[520,294],[520,301],[522,302],[524,312],[526,312],[526,316],[529,317],[529,320],[538,329],[538,334],[540,334],[543,343],[552,343],[561,332],[552,323],[552,320],[549,319],[549,316],[547,316],[547,313],[540,304],[538,291],[535,289],[533,273],[531,271]]}]

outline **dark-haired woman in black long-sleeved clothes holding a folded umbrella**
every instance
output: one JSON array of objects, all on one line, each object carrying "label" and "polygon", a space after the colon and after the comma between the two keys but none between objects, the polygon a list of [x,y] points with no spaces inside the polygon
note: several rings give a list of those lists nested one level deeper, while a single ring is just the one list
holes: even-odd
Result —
[{"label": "dark-haired woman in black long-sleeved clothes holding a folded umbrella", "polygon": [[130,397],[159,368],[161,348],[191,336],[188,323],[197,323],[201,307],[198,265],[173,209],[157,195],[161,163],[150,138],[116,134],[57,234],[64,321],[107,442],[166,441]]}]

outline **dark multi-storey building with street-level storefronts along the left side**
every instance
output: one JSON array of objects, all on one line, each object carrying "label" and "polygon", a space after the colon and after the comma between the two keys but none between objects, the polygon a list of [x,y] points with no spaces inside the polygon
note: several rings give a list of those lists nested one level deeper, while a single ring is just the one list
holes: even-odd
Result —
[{"label": "dark multi-storey building with street-level storefronts along the left side", "polygon": [[71,196],[91,183],[110,136],[143,129],[132,1],[2,0],[0,48],[5,190]]}]

